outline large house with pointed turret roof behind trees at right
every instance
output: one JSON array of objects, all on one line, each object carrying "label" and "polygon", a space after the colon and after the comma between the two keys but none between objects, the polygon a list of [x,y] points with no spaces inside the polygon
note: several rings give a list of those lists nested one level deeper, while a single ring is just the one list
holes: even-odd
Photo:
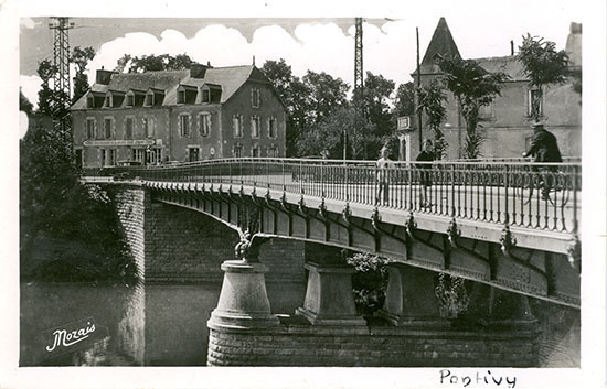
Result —
[{"label": "large house with pointed turret roof behind trees at right", "polygon": [[[569,56],[572,69],[581,71],[581,24],[572,23],[565,51]],[[459,56],[459,50],[447,22],[441,18],[419,66],[422,86],[443,76],[438,66],[440,56],[454,55]],[[543,90],[543,94],[539,94],[530,86],[513,47],[511,47],[511,55],[508,56],[473,60],[488,72],[503,72],[510,77],[503,84],[501,96],[498,96],[490,106],[481,108],[481,121],[477,129],[486,139],[480,149],[481,156],[521,156],[529,147],[533,133],[530,128],[532,122],[530,101],[537,96],[542,98],[540,105],[542,121],[556,136],[562,154],[564,156],[582,155],[582,95],[575,89],[573,78],[562,85],[551,85]],[[417,74],[414,73],[412,76],[416,79]],[[448,90],[445,108],[447,117],[441,123],[441,130],[449,144],[448,158],[462,158],[466,122],[459,112],[456,98]],[[402,120],[404,126],[411,125],[412,128],[415,127],[416,121],[413,117],[411,120]],[[425,127],[423,125],[423,138],[433,139],[434,134]],[[417,155],[418,136],[415,130],[407,137],[406,159],[415,159]]]}]

